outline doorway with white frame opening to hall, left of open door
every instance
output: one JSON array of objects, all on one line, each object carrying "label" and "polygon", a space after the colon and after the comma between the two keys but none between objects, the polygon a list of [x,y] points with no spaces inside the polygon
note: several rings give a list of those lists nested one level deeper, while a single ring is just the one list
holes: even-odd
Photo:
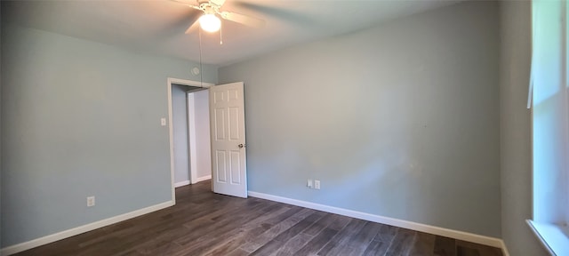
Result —
[{"label": "doorway with white frame opening to hall, left of open door", "polygon": [[211,86],[168,79],[172,200],[175,199],[175,188],[212,177],[207,90]]}]

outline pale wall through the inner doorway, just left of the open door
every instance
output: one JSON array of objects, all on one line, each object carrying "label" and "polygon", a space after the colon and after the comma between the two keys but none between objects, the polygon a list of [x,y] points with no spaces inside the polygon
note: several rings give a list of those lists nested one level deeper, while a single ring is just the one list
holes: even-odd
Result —
[{"label": "pale wall through the inner doorway, just left of the open door", "polygon": [[196,108],[197,178],[212,175],[212,148],[210,141],[210,93],[194,92]]}]

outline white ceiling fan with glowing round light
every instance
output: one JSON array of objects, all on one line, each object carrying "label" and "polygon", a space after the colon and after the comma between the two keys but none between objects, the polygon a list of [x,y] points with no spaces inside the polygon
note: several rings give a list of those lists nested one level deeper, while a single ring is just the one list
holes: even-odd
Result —
[{"label": "white ceiling fan with glowing round light", "polygon": [[221,19],[243,24],[252,28],[262,28],[265,20],[260,20],[236,12],[220,11],[225,0],[172,0],[174,2],[187,5],[191,8],[204,12],[199,19],[190,24],[186,34],[191,33],[196,23],[207,32],[216,32],[221,28]]}]

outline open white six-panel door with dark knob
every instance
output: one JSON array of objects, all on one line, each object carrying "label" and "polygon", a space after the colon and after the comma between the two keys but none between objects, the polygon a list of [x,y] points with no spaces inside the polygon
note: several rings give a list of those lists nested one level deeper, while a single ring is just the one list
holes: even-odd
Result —
[{"label": "open white six-panel door with dark knob", "polygon": [[247,197],[243,82],[210,87],[213,192]]}]

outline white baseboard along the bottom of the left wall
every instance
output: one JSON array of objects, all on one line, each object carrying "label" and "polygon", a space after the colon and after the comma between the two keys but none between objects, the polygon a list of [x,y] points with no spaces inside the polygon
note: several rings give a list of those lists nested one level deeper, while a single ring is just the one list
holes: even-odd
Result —
[{"label": "white baseboard along the bottom of the left wall", "polygon": [[34,240],[28,241],[28,242],[24,242],[21,244],[14,244],[12,246],[8,246],[5,248],[2,248],[2,256],[7,256],[7,255],[12,255],[14,253],[18,253],[18,252],[23,252],[26,251],[28,249],[32,249],[34,247],[40,246],[40,245],[44,245],[44,244],[50,244],[52,242],[55,241],[59,241],[61,239],[65,239],[71,236],[76,236],[97,228],[102,228],[111,224],[115,224],[116,222],[120,222],[123,220],[129,220],[135,217],[138,217],[140,215],[144,215],[150,212],[156,212],[158,210],[170,207],[172,205],[174,205],[174,201],[168,201],[168,202],[164,202],[162,204],[155,204],[146,208],[142,208],[140,210],[136,210],[133,212],[127,212],[115,217],[111,217],[105,220],[99,220],[99,221],[95,221],[77,228],[71,228],[68,230],[64,230],[61,231],[59,233],[55,233],[52,235],[48,235],[48,236],[43,236],[43,237],[39,237],[36,238]]}]

